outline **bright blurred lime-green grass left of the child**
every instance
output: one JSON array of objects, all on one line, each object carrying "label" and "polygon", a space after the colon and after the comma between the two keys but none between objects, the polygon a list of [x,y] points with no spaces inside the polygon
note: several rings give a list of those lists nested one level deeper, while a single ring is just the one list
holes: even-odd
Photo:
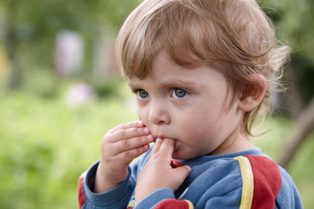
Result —
[{"label": "bright blurred lime-green grass left of the child", "polygon": [[0,208],[78,208],[78,177],[100,158],[102,137],[136,119],[122,97],[67,105],[70,85],[49,99],[31,88],[1,91]]}]

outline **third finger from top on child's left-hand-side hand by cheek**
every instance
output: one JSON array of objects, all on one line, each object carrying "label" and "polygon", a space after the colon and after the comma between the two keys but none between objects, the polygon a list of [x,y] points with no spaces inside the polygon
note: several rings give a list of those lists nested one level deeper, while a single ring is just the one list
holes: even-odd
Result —
[{"label": "third finger from top on child's left-hand-side hand by cheek", "polygon": [[124,139],[121,141],[118,141],[114,143],[114,146],[117,150],[117,153],[124,152],[127,150],[132,150],[135,148],[139,148],[144,146],[145,144],[148,144],[150,142],[153,142],[154,138],[151,134],[144,135],[140,137],[133,137],[129,139]]}]

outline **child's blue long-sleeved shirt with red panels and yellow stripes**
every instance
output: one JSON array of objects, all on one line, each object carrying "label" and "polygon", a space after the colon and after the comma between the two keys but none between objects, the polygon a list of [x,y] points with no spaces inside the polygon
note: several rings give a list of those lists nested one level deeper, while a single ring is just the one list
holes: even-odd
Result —
[{"label": "child's blue long-sleeved shirt with red panels and yellow stripes", "polygon": [[179,163],[191,167],[192,173],[178,190],[173,192],[164,188],[135,203],[136,178],[147,162],[150,151],[129,166],[128,177],[123,182],[101,194],[91,191],[99,161],[94,163],[78,185],[80,206],[106,209],[164,208],[165,205],[189,209],[303,208],[290,176],[259,148],[180,160]]}]

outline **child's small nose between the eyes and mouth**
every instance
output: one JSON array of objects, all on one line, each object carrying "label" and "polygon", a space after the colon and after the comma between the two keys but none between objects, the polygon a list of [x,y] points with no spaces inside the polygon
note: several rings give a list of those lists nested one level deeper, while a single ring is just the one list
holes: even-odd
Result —
[{"label": "child's small nose between the eyes and mouth", "polygon": [[167,106],[161,101],[151,101],[148,120],[153,124],[169,124],[168,111]]}]

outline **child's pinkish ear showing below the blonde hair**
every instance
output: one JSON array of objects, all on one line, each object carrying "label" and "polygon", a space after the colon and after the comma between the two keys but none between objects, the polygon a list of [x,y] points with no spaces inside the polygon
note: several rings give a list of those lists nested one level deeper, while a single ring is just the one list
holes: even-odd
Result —
[{"label": "child's pinkish ear showing below the blonde hair", "polygon": [[250,74],[248,76],[251,84],[245,85],[238,103],[238,108],[244,112],[256,108],[266,92],[266,79],[262,75]]}]

